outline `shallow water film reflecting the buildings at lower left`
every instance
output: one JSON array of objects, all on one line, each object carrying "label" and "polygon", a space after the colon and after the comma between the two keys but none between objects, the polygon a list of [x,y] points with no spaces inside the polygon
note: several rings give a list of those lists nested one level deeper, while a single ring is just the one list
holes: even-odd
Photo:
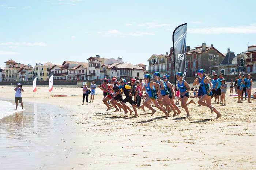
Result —
[{"label": "shallow water film reflecting the buildings at lower left", "polygon": [[71,143],[81,140],[65,110],[38,103],[24,107],[0,119],[0,169],[58,169],[68,157],[76,159],[79,149]]}]

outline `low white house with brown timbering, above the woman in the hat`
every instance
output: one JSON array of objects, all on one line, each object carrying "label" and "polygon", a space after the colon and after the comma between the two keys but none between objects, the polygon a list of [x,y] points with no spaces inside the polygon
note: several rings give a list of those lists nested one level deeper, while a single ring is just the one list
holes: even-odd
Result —
[{"label": "low white house with brown timbering, above the woman in the hat", "polygon": [[68,69],[69,80],[86,80],[88,65],[80,64],[79,66]]}]

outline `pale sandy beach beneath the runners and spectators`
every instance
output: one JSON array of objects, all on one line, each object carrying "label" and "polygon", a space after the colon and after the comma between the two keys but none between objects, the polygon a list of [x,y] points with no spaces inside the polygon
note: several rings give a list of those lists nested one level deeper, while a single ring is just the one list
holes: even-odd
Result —
[{"label": "pale sandy beach beneath the runners and spectators", "polygon": [[[256,169],[256,100],[237,103],[237,98],[229,96],[229,89],[226,106],[212,103],[222,114],[216,120],[217,115],[211,114],[208,107],[197,104],[188,106],[189,118],[184,109],[176,117],[171,112],[168,119],[158,109],[153,116],[148,109],[140,109],[139,117],[132,117],[134,114],[124,115],[114,109],[106,111],[99,88],[96,92],[100,94],[88,105],[82,105],[82,88],[54,87],[49,93],[74,95],[69,97],[51,97],[48,87],[38,87],[37,92],[31,86],[23,88],[26,110],[30,106],[26,103],[31,102],[56,106],[58,114],[45,117],[53,119],[52,129],[57,130],[57,119],[62,117],[61,128],[67,129],[67,133],[56,131],[54,146],[59,146],[43,152],[43,159],[30,158],[38,162],[31,169]],[[14,87],[0,87],[0,98],[14,100],[14,95]],[[1,164],[6,163],[4,155],[0,156]],[[19,160],[12,161],[22,167]]]}]

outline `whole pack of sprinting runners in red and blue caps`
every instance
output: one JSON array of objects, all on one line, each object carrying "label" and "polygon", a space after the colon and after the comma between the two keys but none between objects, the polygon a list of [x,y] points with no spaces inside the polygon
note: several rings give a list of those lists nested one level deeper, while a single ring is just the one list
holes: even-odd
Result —
[{"label": "whole pack of sprinting runners in red and blue caps", "polygon": [[[212,89],[213,84],[207,78],[205,71],[200,69],[197,73],[199,78],[196,78],[193,82],[193,86],[199,84],[200,94],[197,103],[202,106],[206,106],[210,109],[210,112],[217,114],[216,118],[221,117],[221,114],[211,106]],[[181,72],[176,73],[177,87],[180,90],[181,107],[185,109],[187,117],[191,116],[189,113],[188,105],[193,103],[196,104],[193,99],[188,102],[189,91],[191,90],[188,83],[183,79]],[[175,105],[174,91],[172,84],[169,82],[169,75],[163,75],[163,79],[160,78],[160,73],[154,73],[155,82],[151,79],[149,74],[144,75],[144,84],[140,83],[136,79],[132,79],[131,82],[126,82],[125,79],[117,81],[116,77],[113,77],[111,82],[108,79],[103,79],[103,84],[98,87],[103,90],[104,98],[103,103],[108,107],[107,110],[114,107],[117,111],[124,110],[124,114],[129,113],[130,115],[134,111],[135,117],[138,116],[137,109],[146,111],[144,107],[147,107],[152,111],[151,116],[156,112],[151,106],[151,103],[161,110],[165,117],[169,116],[169,113],[173,111],[173,116],[181,113],[180,109]],[[146,91],[146,95],[143,95],[143,91]],[[123,99],[123,94],[125,98]],[[143,99],[143,103],[142,102]],[[110,104],[108,101],[110,100]],[[125,103],[129,103],[133,110],[131,110]]]}]

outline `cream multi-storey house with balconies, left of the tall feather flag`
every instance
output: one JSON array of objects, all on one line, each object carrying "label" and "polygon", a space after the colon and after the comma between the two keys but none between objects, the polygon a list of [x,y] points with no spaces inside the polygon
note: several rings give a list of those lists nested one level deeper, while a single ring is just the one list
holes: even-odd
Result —
[{"label": "cream multi-storey house with balconies, left of the tall feather flag", "polygon": [[169,57],[168,53],[165,54],[153,54],[147,61],[148,61],[148,74],[153,77],[155,72],[159,72],[160,76],[166,74],[166,65],[167,65],[167,58]]}]

